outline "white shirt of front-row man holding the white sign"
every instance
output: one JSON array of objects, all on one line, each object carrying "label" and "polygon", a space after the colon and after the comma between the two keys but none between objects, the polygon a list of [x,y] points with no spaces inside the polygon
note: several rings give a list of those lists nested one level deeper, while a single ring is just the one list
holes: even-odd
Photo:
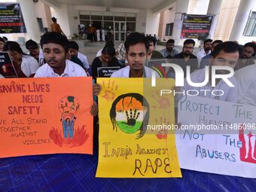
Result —
[{"label": "white shirt of front-row man holding the white sign", "polygon": [[[190,74],[190,80],[194,83],[202,83],[205,80],[206,70],[205,69],[199,69],[196,72],[193,72]],[[187,90],[197,90],[199,92],[198,96],[203,96],[209,99],[217,99],[221,101],[226,102],[236,102],[237,101],[237,83],[236,78],[231,77],[228,78],[229,81],[235,86],[235,87],[229,87],[222,79],[218,81],[218,84],[216,84],[215,87],[212,87],[209,83],[207,83],[203,87],[192,87],[187,83],[187,79],[184,80],[184,87],[181,87],[181,90],[179,92],[185,91],[185,95],[187,93]],[[204,91],[204,90],[210,90],[210,91]],[[222,90],[224,92],[223,96],[214,96],[212,94],[212,90]],[[190,95],[196,95],[197,91],[190,91]],[[216,91],[215,95],[221,95],[221,92]],[[183,93],[175,94],[175,104],[178,103],[178,100],[181,99],[181,97],[184,96]]]}]

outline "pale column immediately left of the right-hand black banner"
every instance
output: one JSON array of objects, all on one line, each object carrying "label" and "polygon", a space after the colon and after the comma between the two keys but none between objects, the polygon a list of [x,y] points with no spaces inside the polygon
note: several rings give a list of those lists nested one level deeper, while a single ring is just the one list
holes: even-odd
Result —
[{"label": "pale column immediately left of the right-hand black banner", "polygon": [[181,44],[181,29],[182,20],[181,13],[187,13],[189,0],[177,0],[175,8],[175,19],[172,30],[172,38],[175,40],[175,44]]}]

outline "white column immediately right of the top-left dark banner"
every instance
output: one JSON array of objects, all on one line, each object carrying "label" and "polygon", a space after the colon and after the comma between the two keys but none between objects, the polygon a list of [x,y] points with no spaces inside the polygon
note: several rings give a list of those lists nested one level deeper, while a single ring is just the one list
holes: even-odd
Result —
[{"label": "white column immediately right of the top-left dark banner", "polygon": [[38,21],[35,14],[35,3],[33,1],[18,0],[20,3],[23,20],[26,26],[26,41],[32,38],[33,41],[40,42],[41,32],[39,32]]}]

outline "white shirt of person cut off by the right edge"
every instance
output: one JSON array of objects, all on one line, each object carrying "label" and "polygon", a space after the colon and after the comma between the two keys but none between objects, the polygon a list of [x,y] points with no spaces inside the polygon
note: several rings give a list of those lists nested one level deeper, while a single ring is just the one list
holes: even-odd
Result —
[{"label": "white shirt of person cut off by the right edge", "polygon": [[238,102],[256,106],[256,65],[246,66],[235,73]]}]

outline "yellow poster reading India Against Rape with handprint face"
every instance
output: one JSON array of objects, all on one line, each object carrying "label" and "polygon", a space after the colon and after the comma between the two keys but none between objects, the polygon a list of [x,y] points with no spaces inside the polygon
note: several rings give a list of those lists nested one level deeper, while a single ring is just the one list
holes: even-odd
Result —
[{"label": "yellow poster reading India Against Rape with handprint face", "polygon": [[[154,129],[156,123],[174,122],[173,97],[160,99],[157,90],[147,89],[150,79],[98,78],[97,82],[102,92],[96,177],[181,177],[175,135]],[[159,79],[157,88],[167,83],[173,81]]]}]

